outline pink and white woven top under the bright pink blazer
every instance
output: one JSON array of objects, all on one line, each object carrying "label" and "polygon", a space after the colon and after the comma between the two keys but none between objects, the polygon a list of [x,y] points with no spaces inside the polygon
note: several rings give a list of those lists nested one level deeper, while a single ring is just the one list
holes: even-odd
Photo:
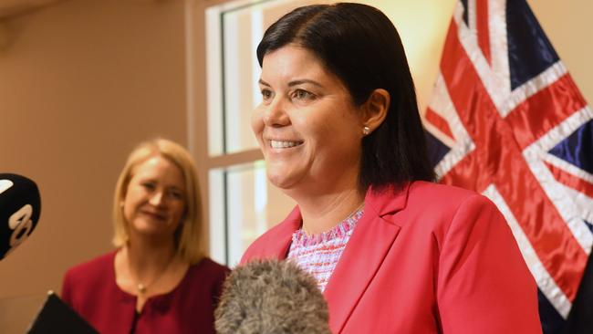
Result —
[{"label": "pink and white woven top under the bright pink blazer", "polygon": [[292,235],[287,257],[317,279],[317,287],[321,292],[326,289],[329,277],[362,213],[362,209],[359,209],[328,232],[307,235],[303,229],[298,229]]}]

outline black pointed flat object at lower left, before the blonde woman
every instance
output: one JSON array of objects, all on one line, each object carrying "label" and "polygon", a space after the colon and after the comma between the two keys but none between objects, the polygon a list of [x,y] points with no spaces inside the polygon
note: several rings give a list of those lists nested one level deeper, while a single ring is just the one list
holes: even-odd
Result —
[{"label": "black pointed flat object at lower left, before the blonde woman", "polygon": [[50,291],[28,334],[77,333],[97,334],[85,319]]}]

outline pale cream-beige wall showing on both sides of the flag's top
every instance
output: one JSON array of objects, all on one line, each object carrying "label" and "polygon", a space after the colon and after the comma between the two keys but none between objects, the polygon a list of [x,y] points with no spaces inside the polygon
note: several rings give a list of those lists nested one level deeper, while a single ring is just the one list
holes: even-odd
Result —
[{"label": "pale cream-beige wall showing on both sides of the flag's top", "polygon": [[[423,112],[436,78],[444,38],[451,22],[454,0],[360,0],[383,10],[394,22],[409,57]],[[593,37],[589,0],[527,0],[547,37],[556,47],[577,86],[593,101]]]}]

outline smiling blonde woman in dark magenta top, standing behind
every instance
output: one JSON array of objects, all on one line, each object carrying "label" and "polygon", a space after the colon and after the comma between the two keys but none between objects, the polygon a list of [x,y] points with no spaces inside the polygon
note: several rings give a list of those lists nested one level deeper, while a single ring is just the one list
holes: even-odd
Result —
[{"label": "smiling blonde woman in dark magenta top, standing behind", "polygon": [[203,256],[201,215],[188,151],[141,143],[115,190],[117,249],[70,268],[63,299],[104,333],[213,333],[228,268]]}]

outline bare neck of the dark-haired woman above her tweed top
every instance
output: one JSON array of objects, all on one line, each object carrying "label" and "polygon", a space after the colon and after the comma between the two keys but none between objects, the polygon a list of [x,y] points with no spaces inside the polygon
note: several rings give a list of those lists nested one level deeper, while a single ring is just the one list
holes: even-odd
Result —
[{"label": "bare neck of the dark-haired woman above her tweed top", "polygon": [[357,189],[296,200],[308,235],[326,232],[359,209],[364,194]]}]

